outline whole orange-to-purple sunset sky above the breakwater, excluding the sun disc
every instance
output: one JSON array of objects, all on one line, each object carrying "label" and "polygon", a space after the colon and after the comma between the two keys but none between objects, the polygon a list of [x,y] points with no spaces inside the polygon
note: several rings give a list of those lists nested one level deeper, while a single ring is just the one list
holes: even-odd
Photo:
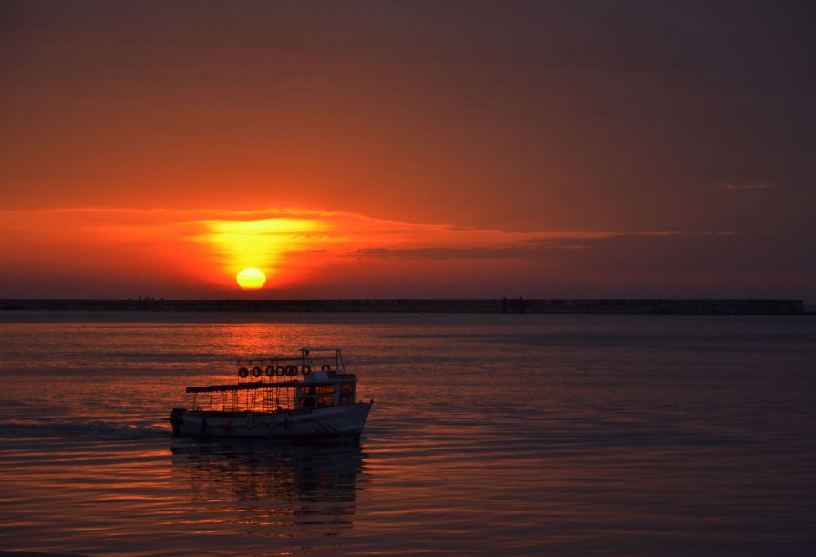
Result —
[{"label": "whole orange-to-purple sunset sky above the breakwater, excluding the sun disc", "polygon": [[727,4],[5,3],[0,298],[816,300],[808,18]]}]

